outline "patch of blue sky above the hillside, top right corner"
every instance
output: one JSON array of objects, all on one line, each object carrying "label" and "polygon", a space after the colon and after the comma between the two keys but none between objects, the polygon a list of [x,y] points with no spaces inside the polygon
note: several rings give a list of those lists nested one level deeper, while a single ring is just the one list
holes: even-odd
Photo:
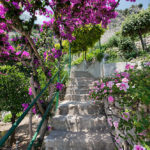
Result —
[{"label": "patch of blue sky above the hillside, top right corner", "polygon": [[126,0],[120,0],[120,5],[118,7],[118,9],[126,9],[129,8],[131,5],[135,5],[135,4],[143,4],[143,8],[146,9],[148,8],[148,4],[150,4],[150,0],[136,0],[136,2],[128,2]]}]

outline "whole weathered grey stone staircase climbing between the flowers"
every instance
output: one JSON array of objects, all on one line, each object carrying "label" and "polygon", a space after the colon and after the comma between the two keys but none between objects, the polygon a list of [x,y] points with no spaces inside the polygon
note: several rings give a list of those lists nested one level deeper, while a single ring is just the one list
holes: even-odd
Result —
[{"label": "whole weathered grey stone staircase climbing between the flowers", "polygon": [[71,73],[65,100],[51,120],[54,130],[45,138],[46,150],[114,150],[103,104],[89,99],[94,78],[84,71]]}]

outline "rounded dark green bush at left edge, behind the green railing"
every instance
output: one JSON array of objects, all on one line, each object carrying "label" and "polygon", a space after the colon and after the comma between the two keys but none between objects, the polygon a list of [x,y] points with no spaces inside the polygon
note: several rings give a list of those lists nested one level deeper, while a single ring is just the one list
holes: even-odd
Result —
[{"label": "rounded dark green bush at left edge, behind the green railing", "polygon": [[29,102],[29,79],[15,66],[0,66],[0,109],[16,114]]}]

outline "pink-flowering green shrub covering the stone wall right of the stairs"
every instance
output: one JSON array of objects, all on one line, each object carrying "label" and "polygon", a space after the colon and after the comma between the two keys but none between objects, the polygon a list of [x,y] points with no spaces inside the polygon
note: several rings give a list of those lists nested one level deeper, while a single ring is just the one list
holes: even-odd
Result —
[{"label": "pink-flowering green shrub covering the stone wall right of the stairs", "polygon": [[150,62],[142,69],[127,64],[124,72],[96,81],[90,98],[101,100],[118,149],[140,144],[150,149]]}]

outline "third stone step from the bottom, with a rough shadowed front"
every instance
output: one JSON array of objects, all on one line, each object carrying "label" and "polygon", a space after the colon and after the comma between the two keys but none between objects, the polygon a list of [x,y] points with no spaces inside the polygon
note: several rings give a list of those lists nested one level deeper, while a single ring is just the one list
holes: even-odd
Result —
[{"label": "third stone step from the bottom, with a rough shadowed front", "polygon": [[[96,104],[95,104],[96,103]],[[103,103],[101,101],[64,101],[59,107],[57,114],[59,115],[98,115],[104,113]]]}]

